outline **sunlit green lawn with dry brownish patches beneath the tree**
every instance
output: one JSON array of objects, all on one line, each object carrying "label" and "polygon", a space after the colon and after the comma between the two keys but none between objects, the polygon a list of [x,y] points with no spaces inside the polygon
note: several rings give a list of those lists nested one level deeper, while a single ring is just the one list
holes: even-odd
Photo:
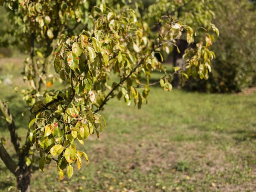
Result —
[{"label": "sunlit green lawn with dry brownish patches beneath the tree", "polygon": [[[14,79],[15,85],[19,82]],[[24,137],[28,118],[21,113],[26,105],[12,86],[0,84],[0,97],[10,101]],[[256,191],[256,93],[164,92],[152,87],[142,109],[113,99],[103,114],[107,128],[100,138],[80,145],[90,158],[89,167],[59,182],[54,163],[44,174],[36,163],[32,191]],[[3,119],[0,136],[9,139]],[[6,148],[14,151],[9,140]],[[0,160],[0,191],[9,186],[15,186],[15,177]]]}]

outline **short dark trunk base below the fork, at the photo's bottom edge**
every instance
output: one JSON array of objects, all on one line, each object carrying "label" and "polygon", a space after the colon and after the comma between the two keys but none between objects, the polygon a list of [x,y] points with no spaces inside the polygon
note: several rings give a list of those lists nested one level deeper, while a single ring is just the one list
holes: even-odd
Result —
[{"label": "short dark trunk base below the fork, at the photo's bottom edge", "polygon": [[16,173],[17,189],[21,192],[30,192],[30,169],[28,166],[20,166],[20,169]]}]

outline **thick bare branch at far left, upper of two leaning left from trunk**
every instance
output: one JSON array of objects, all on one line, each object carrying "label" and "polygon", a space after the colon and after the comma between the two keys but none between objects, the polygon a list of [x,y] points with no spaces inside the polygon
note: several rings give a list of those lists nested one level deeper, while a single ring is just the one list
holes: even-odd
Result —
[{"label": "thick bare branch at far left, upper of two leaning left from trunk", "polygon": [[12,114],[9,111],[9,108],[7,107],[6,103],[3,102],[0,99],[0,111],[3,113],[3,116],[8,124],[10,136],[11,136],[11,141],[14,145],[15,151],[17,154],[20,153],[20,141],[18,139],[17,135],[17,128],[15,126],[15,122],[13,120]]}]

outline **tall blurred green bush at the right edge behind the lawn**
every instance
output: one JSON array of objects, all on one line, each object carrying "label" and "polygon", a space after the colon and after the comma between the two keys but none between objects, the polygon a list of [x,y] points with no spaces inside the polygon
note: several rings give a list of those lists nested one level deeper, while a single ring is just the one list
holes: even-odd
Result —
[{"label": "tall blurred green bush at the right edge behind the lawn", "polygon": [[256,9],[249,0],[216,0],[213,6],[220,36],[208,81],[191,80],[186,88],[239,92],[256,85]]}]

